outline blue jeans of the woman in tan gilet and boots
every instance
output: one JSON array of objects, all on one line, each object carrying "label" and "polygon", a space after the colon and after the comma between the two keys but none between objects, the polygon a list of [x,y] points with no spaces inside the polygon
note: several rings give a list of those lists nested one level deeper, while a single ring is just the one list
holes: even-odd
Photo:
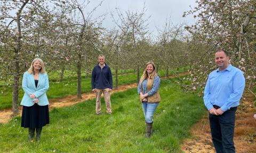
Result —
[{"label": "blue jeans of the woman in tan gilet and boots", "polygon": [[156,111],[156,108],[158,106],[159,102],[157,103],[146,103],[142,102],[142,109],[145,116],[146,123],[152,123],[153,122],[153,115]]}]

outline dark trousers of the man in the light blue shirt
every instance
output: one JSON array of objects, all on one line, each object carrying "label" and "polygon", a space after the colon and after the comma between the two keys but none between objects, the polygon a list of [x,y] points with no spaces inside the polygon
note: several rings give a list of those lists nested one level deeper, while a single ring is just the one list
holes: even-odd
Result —
[{"label": "dark trousers of the man in the light blue shirt", "polygon": [[222,115],[209,115],[212,142],[217,153],[235,152],[233,139],[236,108],[232,107]]}]

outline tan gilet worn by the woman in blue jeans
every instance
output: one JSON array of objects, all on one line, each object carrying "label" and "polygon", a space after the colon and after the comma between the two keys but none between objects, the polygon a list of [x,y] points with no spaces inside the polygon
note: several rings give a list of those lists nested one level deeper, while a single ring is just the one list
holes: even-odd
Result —
[{"label": "tan gilet worn by the woman in blue jeans", "polygon": [[[149,79],[148,78],[148,81],[147,81],[147,91],[151,90],[153,88],[153,82],[154,82],[154,78],[155,78],[156,75],[154,75],[152,77],[152,79]],[[142,91],[142,82],[143,80],[141,79],[140,80],[140,90]],[[151,96],[148,96],[148,103],[156,103],[156,102],[160,102],[161,101],[161,97],[160,97],[160,94],[157,90],[157,92]]]}]

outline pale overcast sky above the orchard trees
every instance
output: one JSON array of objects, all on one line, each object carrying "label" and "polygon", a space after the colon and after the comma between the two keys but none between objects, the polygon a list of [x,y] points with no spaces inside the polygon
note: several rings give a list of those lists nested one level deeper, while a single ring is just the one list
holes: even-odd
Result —
[{"label": "pale overcast sky above the orchard trees", "polygon": [[[92,10],[99,2],[99,0],[91,0],[91,3],[87,6],[88,11]],[[103,27],[111,29],[115,27],[115,23],[110,18],[110,11],[116,13],[115,8],[118,7],[123,13],[127,10],[141,12],[144,2],[147,8],[145,17],[151,16],[148,21],[149,30],[155,36],[157,35],[155,27],[162,28],[166,18],[170,17],[173,24],[186,22],[188,25],[191,25],[196,22],[193,15],[182,18],[183,12],[190,10],[189,5],[192,8],[196,6],[195,0],[105,0],[97,8],[94,16],[108,13],[106,20],[103,21]]]}]

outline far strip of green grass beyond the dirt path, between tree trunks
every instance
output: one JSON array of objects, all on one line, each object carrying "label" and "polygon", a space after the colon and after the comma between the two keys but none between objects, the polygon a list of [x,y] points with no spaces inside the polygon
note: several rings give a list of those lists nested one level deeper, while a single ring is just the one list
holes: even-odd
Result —
[{"label": "far strip of green grass beyond the dirt path, between tree trunks", "polygon": [[[180,72],[183,70],[180,69]],[[130,72],[130,71],[127,71]],[[130,84],[137,82],[137,73],[124,73],[118,72],[118,85],[123,84]],[[165,76],[164,71],[158,72],[161,77]],[[170,75],[173,72],[170,72]],[[142,72],[141,72],[142,74]],[[47,91],[47,96],[49,99],[52,98],[63,98],[68,95],[76,95],[77,94],[77,79],[75,76],[68,76],[65,73],[65,79],[63,82],[58,82],[57,78],[59,75],[57,73],[49,73],[49,80],[50,80],[50,89]],[[12,84],[10,80],[8,83]],[[0,85],[0,109],[11,108],[12,107],[12,88],[4,88],[3,81],[0,81],[2,85]],[[115,75],[113,75],[113,88],[115,88]],[[1,94],[1,91],[3,93]],[[85,75],[82,76],[82,93],[90,92],[91,91],[91,79],[85,78]],[[23,97],[23,90],[20,87],[19,89],[19,104]]]}]

